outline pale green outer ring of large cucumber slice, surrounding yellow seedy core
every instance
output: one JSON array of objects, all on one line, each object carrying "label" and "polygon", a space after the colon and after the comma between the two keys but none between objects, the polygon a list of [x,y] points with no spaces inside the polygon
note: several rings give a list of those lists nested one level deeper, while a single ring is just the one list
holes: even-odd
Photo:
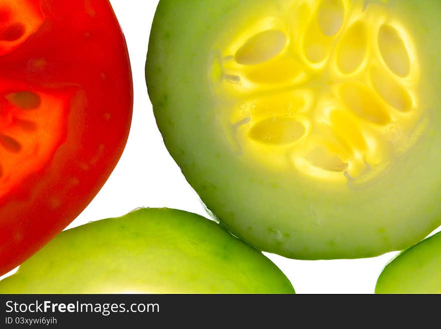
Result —
[{"label": "pale green outer ring of large cucumber slice, surrounding yellow seedy core", "polygon": [[[404,143],[405,152],[380,163],[387,169],[373,169],[380,172],[377,177],[352,183],[312,178],[291,165],[270,166],[265,161],[271,161],[272,151],[262,157],[226,137],[222,113],[230,99],[213,92],[212,80],[221,70],[213,58],[228,55],[223,47],[235,31],[246,30],[259,18],[286,14],[280,14],[285,5],[296,1],[160,1],[146,81],[165,145],[220,224],[260,250],[298,259],[360,258],[402,250],[441,224],[441,49],[434,42],[441,35],[441,2],[369,2],[384,6],[413,36],[418,108],[426,124],[413,145]],[[383,91],[387,98],[387,86]],[[270,150],[268,145],[262,148]],[[335,167],[344,169],[337,160]]]}]

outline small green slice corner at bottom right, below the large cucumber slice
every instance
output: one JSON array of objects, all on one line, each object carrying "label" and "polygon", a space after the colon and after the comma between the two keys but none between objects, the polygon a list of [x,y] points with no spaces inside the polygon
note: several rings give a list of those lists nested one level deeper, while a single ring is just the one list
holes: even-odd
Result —
[{"label": "small green slice corner at bottom right, below the large cucumber slice", "polygon": [[441,232],[392,260],[378,278],[376,293],[441,293]]}]

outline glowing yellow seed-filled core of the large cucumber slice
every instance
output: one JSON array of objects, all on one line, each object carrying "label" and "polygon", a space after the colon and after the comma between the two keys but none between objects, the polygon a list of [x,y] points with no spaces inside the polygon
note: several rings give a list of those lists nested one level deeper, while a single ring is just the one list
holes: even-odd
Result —
[{"label": "glowing yellow seed-filled core of the large cucumber slice", "polygon": [[226,31],[209,63],[226,140],[248,161],[321,180],[373,179],[427,121],[412,36],[387,1],[280,7]]}]

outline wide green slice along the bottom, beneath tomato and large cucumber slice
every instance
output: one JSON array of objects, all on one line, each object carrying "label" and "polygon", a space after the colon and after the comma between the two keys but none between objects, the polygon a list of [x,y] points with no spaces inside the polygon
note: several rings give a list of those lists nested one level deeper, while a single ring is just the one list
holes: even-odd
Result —
[{"label": "wide green slice along the bottom, beneath tomato and large cucumber slice", "polygon": [[0,293],[294,293],[261,252],[201,216],[140,209],[62,232]]}]

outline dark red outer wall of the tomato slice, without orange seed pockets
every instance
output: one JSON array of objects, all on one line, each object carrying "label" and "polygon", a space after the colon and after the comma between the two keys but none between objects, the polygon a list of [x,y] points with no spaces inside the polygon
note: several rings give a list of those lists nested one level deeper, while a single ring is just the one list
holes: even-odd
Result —
[{"label": "dark red outer wall of the tomato slice, without orange seed pockets", "polygon": [[68,107],[50,160],[23,177],[14,172],[20,181],[6,193],[0,185],[0,274],[32,256],[92,201],[124,150],[133,108],[127,46],[109,2],[27,1],[40,10],[42,24],[0,54],[1,78],[31,91],[61,91]]}]

